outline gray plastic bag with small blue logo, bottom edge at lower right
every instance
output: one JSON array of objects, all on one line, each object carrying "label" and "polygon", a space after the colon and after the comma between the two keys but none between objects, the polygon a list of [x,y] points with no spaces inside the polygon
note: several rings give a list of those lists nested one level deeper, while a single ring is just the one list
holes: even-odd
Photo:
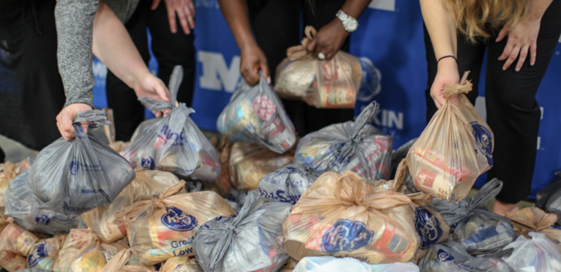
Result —
[{"label": "gray plastic bag with small blue logo, bottom edge at lower right", "polygon": [[419,268],[427,272],[514,272],[507,262],[472,257],[463,245],[451,240],[431,246],[419,261]]}]

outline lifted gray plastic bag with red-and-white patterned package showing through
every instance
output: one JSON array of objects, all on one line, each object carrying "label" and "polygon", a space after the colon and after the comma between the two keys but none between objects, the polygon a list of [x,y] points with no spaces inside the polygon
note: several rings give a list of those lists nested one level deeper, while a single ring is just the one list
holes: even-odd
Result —
[{"label": "lifted gray plastic bag with red-and-white patterned package showing through", "polygon": [[259,74],[261,79],[254,87],[240,83],[218,116],[216,127],[233,142],[258,143],[284,153],[296,142],[294,125],[263,73]]}]

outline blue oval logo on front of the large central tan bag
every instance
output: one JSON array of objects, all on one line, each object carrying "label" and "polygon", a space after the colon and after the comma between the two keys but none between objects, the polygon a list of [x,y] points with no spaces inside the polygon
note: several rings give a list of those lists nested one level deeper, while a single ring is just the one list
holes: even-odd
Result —
[{"label": "blue oval logo on front of the large central tan bag", "polygon": [[366,229],[364,223],[339,219],[321,238],[321,250],[331,254],[339,251],[353,251],[366,246],[373,237],[374,232]]}]

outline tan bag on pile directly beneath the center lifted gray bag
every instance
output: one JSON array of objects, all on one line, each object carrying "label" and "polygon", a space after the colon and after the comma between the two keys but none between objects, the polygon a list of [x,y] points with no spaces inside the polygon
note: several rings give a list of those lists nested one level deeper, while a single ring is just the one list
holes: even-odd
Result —
[{"label": "tan bag on pile directly beneath the center lifted gray bag", "polygon": [[234,143],[230,154],[230,180],[236,190],[255,190],[261,179],[292,163],[296,144],[284,154],[254,143]]}]

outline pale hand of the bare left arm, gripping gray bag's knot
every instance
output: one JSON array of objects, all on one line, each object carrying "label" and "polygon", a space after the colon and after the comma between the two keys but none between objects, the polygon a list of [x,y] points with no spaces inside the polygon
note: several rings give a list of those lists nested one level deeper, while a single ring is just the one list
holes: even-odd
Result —
[{"label": "pale hand of the bare left arm, gripping gray bag's knot", "polygon": [[[169,90],[165,87],[164,82],[161,79],[155,77],[153,74],[146,72],[142,74],[135,81],[132,88],[135,90],[137,97],[152,97],[153,99],[164,100],[169,102]],[[167,116],[171,109],[166,109],[163,112],[153,111],[156,117]]]}]

